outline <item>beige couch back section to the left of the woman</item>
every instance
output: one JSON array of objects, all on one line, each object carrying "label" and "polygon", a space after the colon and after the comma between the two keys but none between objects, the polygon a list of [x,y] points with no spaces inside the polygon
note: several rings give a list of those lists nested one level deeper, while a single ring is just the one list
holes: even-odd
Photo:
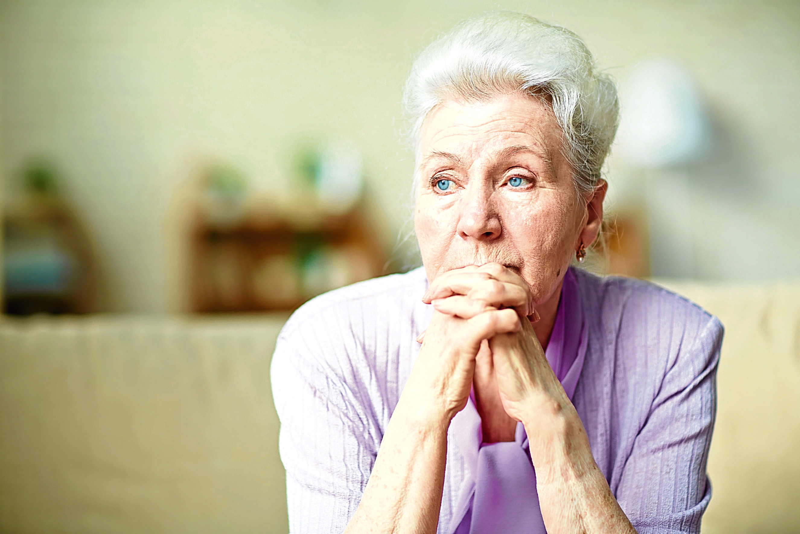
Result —
[{"label": "beige couch back section to the left of the woman", "polygon": [[286,532],[285,319],[0,322],[0,532]]}]

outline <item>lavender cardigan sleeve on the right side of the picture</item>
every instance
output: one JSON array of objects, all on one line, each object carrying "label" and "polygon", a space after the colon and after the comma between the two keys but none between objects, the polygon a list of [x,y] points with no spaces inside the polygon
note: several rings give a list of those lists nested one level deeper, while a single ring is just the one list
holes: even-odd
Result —
[{"label": "lavender cardigan sleeve on the right side of the picture", "polygon": [[700,532],[711,498],[706,462],[722,334],[709,317],[678,351],[634,440],[616,497],[639,534]]}]

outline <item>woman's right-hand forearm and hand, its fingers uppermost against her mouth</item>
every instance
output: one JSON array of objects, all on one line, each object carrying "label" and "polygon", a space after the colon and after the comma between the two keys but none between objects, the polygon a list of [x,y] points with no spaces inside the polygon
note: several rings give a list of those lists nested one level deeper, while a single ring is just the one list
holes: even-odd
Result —
[{"label": "woman's right-hand forearm and hand, its fingers uppermost against her mouth", "polygon": [[[498,263],[464,267],[435,279],[423,300],[433,303],[442,313],[463,318],[500,307],[518,311],[522,322],[518,331],[488,340],[491,369],[488,375],[484,369],[483,384],[489,397],[499,396],[505,411],[498,414],[490,410],[490,417],[510,417],[525,425],[547,531],[635,534],[594,462],[586,429],[527,319],[533,315],[535,320],[537,314],[525,280]],[[474,373],[478,404],[480,359],[478,354]],[[486,410],[478,406],[478,412],[486,438]],[[502,432],[502,440],[508,440],[508,429]],[[510,440],[513,436],[512,433]]]}]

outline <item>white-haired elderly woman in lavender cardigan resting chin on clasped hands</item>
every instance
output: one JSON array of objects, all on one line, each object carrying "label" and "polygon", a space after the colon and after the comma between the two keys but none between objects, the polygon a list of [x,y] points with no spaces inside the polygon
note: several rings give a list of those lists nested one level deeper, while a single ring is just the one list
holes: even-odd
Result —
[{"label": "white-haired elderly woman in lavender cardigan resting chin on clasped hands", "polygon": [[521,14],[406,85],[423,267],[322,295],[272,364],[292,532],[698,532],[718,319],[576,267],[614,85]]}]

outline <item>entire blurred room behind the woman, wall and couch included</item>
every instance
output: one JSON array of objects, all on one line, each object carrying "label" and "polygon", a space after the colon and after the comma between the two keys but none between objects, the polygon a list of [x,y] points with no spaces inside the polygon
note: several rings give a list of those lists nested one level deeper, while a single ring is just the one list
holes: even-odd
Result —
[{"label": "entire blurred room behind the woman, wall and couch included", "polygon": [[286,531],[274,337],[418,265],[402,85],[498,9],[619,83],[591,268],[728,327],[707,532],[800,532],[794,0],[0,1],[0,530]]}]

